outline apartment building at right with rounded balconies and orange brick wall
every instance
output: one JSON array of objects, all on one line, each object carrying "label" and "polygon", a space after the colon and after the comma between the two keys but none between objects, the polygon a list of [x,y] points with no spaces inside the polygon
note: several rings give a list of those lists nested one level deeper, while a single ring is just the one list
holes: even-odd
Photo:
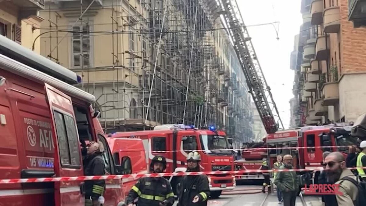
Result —
[{"label": "apartment building at right with rounded balconies and orange brick wall", "polygon": [[355,0],[302,1],[303,59],[295,68],[299,87],[294,93],[299,105],[306,105],[306,124],[356,121],[366,111],[362,8],[362,2]]}]

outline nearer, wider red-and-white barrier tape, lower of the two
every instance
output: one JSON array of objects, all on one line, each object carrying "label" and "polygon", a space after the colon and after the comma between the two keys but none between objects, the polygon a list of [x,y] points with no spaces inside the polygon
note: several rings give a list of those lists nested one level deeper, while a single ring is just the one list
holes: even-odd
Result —
[{"label": "nearer, wider red-and-white barrier tape, lower of the two", "polygon": [[[366,169],[366,167],[359,167]],[[348,168],[348,169],[357,169]],[[244,173],[263,173],[263,172],[310,172],[314,170],[326,170],[322,167],[318,169],[273,169],[273,170],[236,170],[236,171],[208,171],[208,172],[168,172],[168,173],[151,173],[151,174],[121,174],[121,175],[104,175],[104,176],[81,176],[81,177],[46,177],[46,178],[28,178],[28,179],[1,179],[0,184],[12,183],[43,183],[43,182],[59,182],[59,181],[86,181],[86,180],[116,180],[123,178],[141,178],[141,177],[165,177],[165,176],[188,176],[200,174],[244,174]]]}]

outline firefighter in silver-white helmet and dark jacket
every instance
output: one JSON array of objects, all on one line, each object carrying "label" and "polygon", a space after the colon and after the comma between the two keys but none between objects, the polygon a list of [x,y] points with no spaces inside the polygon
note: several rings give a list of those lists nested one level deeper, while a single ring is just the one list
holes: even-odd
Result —
[{"label": "firefighter in silver-white helmet and dark jacket", "polygon": [[[201,155],[190,152],[187,156],[187,172],[199,172]],[[210,196],[209,180],[206,175],[184,176],[179,183],[178,206],[207,206]]]}]

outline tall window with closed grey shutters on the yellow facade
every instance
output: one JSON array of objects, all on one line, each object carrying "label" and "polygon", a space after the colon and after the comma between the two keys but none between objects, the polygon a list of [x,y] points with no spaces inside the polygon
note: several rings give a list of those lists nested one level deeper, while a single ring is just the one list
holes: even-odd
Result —
[{"label": "tall window with closed grey shutters on the yellow facade", "polygon": [[90,66],[90,26],[72,27],[72,66]]}]

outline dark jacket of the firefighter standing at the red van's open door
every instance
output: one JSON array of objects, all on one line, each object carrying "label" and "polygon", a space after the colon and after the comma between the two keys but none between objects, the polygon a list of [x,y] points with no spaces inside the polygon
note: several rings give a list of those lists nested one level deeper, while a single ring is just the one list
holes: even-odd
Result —
[{"label": "dark jacket of the firefighter standing at the red van's open door", "polygon": [[[94,154],[86,157],[84,160],[85,176],[100,176],[105,175],[104,160],[101,155]],[[87,180],[85,181],[85,198],[98,199],[103,195],[105,180]]]}]

